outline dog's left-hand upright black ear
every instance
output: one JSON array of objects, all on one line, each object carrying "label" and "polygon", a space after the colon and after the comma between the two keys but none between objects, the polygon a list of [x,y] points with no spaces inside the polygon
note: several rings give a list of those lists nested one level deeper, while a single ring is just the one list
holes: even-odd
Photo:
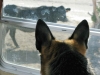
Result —
[{"label": "dog's left-hand upright black ear", "polygon": [[41,19],[37,21],[35,38],[36,48],[39,52],[41,52],[41,47],[43,45],[50,45],[51,41],[55,39],[46,23]]}]

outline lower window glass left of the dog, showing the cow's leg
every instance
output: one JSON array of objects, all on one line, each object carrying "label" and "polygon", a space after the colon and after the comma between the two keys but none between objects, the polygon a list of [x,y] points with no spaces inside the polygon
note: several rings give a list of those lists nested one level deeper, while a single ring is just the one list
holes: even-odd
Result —
[{"label": "lower window glass left of the dog, showing the cow's leg", "polygon": [[39,52],[35,48],[34,29],[4,24],[3,57],[6,62],[40,69]]}]

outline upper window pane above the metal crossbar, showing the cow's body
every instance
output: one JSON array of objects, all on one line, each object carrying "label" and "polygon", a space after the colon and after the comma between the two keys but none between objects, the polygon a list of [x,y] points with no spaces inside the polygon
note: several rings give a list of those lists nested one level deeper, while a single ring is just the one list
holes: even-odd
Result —
[{"label": "upper window pane above the metal crossbar, showing the cow's body", "polygon": [[[3,16],[76,26],[87,19],[94,28],[92,0],[4,0]],[[93,17],[94,18],[94,17]]]}]

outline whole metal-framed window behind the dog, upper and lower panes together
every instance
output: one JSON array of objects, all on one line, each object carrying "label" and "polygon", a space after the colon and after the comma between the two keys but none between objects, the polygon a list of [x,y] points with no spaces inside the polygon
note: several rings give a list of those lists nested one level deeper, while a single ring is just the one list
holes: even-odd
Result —
[{"label": "whole metal-framed window behind the dog, upper and lower panes together", "polygon": [[[97,1],[99,2],[99,0]],[[35,48],[34,37],[37,19],[41,18],[47,22],[55,37],[61,40],[69,37],[75,26],[81,20],[86,19],[91,28],[87,56],[95,73],[99,75],[100,30],[94,29],[99,28],[99,23],[96,23],[97,17],[92,14],[94,3],[92,0],[4,0],[2,13],[3,61],[16,68],[19,66],[39,72],[40,57]],[[96,4],[98,4],[99,11],[99,3]]]}]

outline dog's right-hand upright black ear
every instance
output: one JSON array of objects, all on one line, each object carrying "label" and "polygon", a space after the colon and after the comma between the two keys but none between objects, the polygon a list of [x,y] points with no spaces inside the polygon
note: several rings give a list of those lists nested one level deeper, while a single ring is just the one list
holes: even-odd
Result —
[{"label": "dog's right-hand upright black ear", "polygon": [[87,42],[89,38],[89,25],[86,20],[83,20],[74,30],[72,36],[69,39],[75,39],[78,42],[84,42],[87,48]]}]

